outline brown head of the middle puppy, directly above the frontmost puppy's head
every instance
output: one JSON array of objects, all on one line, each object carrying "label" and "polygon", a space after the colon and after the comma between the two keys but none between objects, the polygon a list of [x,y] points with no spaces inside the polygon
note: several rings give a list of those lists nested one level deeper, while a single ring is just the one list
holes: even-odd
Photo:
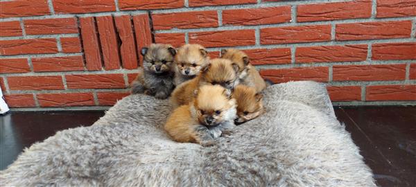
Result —
[{"label": "brown head of the middle puppy, directly above the frontmost puppy's head", "polygon": [[220,85],[226,89],[234,89],[239,84],[236,72],[239,67],[227,59],[216,58],[202,70],[200,84]]}]

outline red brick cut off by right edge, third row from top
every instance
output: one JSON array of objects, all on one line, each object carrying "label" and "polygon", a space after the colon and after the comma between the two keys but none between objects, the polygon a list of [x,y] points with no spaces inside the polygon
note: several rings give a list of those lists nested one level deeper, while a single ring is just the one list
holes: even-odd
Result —
[{"label": "red brick cut off by right edge, third row from top", "polygon": [[372,60],[416,59],[416,42],[372,44]]}]

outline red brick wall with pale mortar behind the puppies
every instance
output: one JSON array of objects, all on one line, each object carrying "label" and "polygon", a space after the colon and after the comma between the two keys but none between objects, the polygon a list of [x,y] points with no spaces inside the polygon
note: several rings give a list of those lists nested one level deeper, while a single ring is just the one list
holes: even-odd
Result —
[{"label": "red brick wall with pale mortar behind the puppies", "polygon": [[[274,82],[327,82],[337,105],[416,104],[416,1],[0,2],[10,107],[113,105],[151,42],[246,51]],[[139,60],[139,62],[138,62]]]}]

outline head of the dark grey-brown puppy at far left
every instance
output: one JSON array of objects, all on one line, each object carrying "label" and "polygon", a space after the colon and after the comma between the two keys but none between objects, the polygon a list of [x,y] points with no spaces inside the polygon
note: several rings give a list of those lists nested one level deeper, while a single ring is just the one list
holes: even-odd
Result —
[{"label": "head of the dark grey-brown puppy at far left", "polygon": [[151,44],[148,48],[141,48],[141,55],[144,56],[143,66],[155,74],[170,72],[175,53],[175,48],[168,44]]}]

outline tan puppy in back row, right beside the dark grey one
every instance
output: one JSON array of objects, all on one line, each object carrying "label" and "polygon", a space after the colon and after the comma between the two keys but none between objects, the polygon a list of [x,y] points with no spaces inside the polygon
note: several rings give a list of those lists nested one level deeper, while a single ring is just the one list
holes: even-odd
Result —
[{"label": "tan puppy in back row, right beside the dark grey one", "polygon": [[199,75],[209,63],[207,50],[199,44],[184,44],[175,55],[175,85],[191,80]]}]

